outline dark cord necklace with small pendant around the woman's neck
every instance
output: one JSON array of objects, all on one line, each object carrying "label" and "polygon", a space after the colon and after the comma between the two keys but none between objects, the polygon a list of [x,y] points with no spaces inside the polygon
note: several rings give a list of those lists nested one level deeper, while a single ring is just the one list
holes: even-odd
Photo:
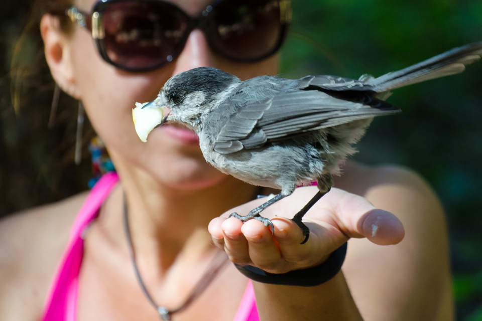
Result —
[{"label": "dark cord necklace with small pendant around the woman's neck", "polygon": [[139,272],[139,267],[137,266],[137,262],[136,262],[136,251],[134,250],[134,245],[132,243],[131,229],[129,227],[129,210],[128,210],[127,198],[125,194],[124,194],[124,213],[123,214],[124,214],[124,230],[126,232],[127,244],[129,246],[129,254],[131,256],[131,261],[134,267],[134,272],[136,273],[137,281],[139,282],[139,285],[141,286],[141,289],[144,292],[144,295],[147,297],[151,305],[154,306],[154,308],[159,312],[161,320],[169,321],[172,319],[172,315],[174,313],[184,310],[197,297],[199,297],[199,295],[201,295],[201,293],[206,289],[206,287],[212,282],[212,280],[219,273],[219,271],[224,266],[224,264],[228,261],[227,256],[224,254],[223,251],[218,251],[217,254],[214,256],[214,258],[212,259],[211,263],[209,263],[209,266],[206,272],[204,272],[203,276],[199,279],[199,281],[194,286],[193,290],[187,296],[184,302],[181,303],[181,305],[179,305],[177,308],[168,309],[167,307],[159,305],[154,301],[151,294],[147,290],[146,284],[144,283],[141,277],[141,273]]}]

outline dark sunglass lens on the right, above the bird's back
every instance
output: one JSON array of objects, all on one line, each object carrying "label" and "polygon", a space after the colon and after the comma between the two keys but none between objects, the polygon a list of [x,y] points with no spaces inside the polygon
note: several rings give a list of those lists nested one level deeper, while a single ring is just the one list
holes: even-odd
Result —
[{"label": "dark sunglass lens on the right, above the bird's back", "polygon": [[211,46],[234,60],[254,61],[273,54],[283,40],[279,0],[224,1],[208,16]]}]

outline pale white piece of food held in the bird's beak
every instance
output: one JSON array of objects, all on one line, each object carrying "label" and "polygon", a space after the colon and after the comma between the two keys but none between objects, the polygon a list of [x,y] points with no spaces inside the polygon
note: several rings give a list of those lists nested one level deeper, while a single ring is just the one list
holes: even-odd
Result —
[{"label": "pale white piece of food held in the bird's beak", "polygon": [[132,119],[134,120],[134,127],[136,128],[137,135],[142,141],[147,141],[149,133],[156,128],[162,121],[163,107],[149,106],[148,108],[142,108],[147,105],[145,103],[136,103],[136,108],[132,110]]}]

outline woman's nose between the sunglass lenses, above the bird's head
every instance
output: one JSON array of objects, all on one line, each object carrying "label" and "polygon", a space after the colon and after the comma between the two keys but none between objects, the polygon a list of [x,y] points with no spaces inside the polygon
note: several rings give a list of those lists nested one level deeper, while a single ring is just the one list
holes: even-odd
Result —
[{"label": "woman's nose between the sunglass lenses, above the bird's head", "polygon": [[211,55],[204,33],[198,29],[193,30],[175,62],[173,75],[197,67],[211,66]]}]

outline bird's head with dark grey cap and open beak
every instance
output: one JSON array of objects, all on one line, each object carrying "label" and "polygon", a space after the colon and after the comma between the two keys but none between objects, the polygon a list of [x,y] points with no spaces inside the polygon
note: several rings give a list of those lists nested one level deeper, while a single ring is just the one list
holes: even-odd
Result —
[{"label": "bird's head with dark grey cap and open beak", "polygon": [[143,108],[163,107],[160,125],[173,121],[199,134],[203,115],[219,104],[240,80],[222,70],[200,67],[179,73],[169,79],[158,97]]}]

